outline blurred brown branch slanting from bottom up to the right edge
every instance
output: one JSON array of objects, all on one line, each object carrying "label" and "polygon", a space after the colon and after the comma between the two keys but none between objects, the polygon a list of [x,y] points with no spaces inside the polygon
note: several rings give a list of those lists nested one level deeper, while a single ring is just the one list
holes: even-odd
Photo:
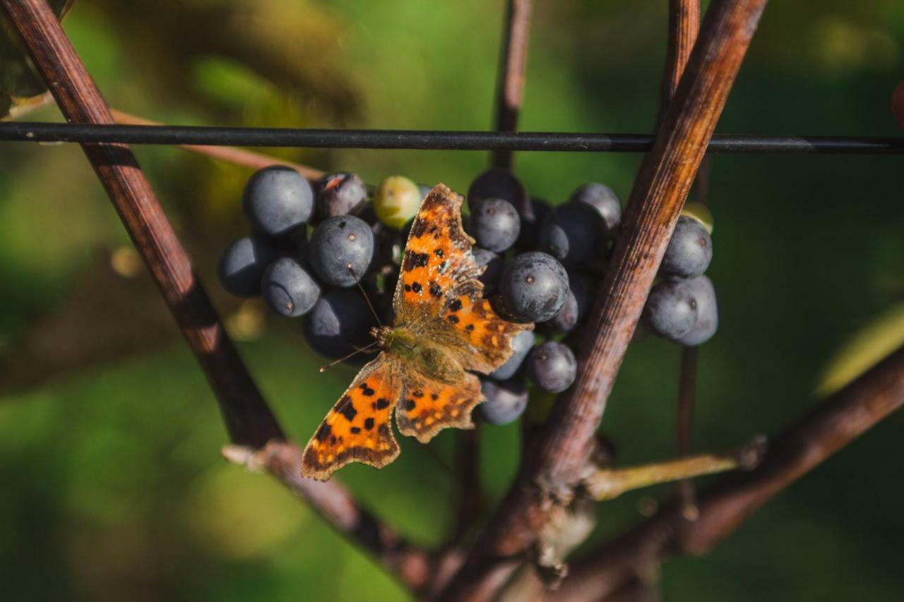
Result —
[{"label": "blurred brown branch slanting from bottom up to the right edge", "polygon": [[664,556],[702,554],[730,535],[760,506],[904,406],[904,347],[833,394],[769,443],[749,473],[721,477],[700,496],[696,522],[675,503],[571,566],[561,600],[600,600]]}]

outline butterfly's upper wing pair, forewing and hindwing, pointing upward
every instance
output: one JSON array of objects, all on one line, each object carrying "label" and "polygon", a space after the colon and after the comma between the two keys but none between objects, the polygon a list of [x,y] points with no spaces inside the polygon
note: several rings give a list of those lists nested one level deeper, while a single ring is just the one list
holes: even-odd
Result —
[{"label": "butterfly's upper wing pair, forewing and hindwing, pointing upward", "polygon": [[466,370],[492,372],[512,354],[512,337],[532,324],[508,322],[483,298],[484,268],[462,228],[463,197],[437,184],[421,202],[402,256],[396,325],[440,344]]}]

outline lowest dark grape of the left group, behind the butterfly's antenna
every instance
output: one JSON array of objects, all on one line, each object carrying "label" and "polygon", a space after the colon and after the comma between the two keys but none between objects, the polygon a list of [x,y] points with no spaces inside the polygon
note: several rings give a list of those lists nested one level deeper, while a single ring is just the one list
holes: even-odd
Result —
[{"label": "lowest dark grape of the left group, behind the butterfly's antenna", "polygon": [[336,359],[370,343],[373,325],[371,310],[360,291],[334,289],[317,299],[305,316],[302,332],[316,353]]}]

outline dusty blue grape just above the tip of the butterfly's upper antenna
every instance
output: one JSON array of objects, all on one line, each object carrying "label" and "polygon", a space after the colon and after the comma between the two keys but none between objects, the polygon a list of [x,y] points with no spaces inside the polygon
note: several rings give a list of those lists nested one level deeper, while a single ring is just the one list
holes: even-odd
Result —
[{"label": "dusty blue grape just above the tip of the butterfly's upper antenna", "polygon": [[311,266],[321,280],[351,287],[371,265],[373,231],[353,215],[337,215],[315,228],[309,247]]}]

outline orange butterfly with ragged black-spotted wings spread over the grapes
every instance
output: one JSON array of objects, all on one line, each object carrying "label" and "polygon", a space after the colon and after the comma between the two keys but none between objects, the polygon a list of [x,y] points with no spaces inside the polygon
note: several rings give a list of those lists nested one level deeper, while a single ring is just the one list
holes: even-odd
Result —
[{"label": "orange butterfly with ragged black-spotted wings spread over the grapes", "polygon": [[437,184],[420,203],[392,300],[391,327],[372,329],[382,349],[366,364],[308,442],[301,475],[325,481],[350,462],[381,468],[399,456],[390,425],[427,443],[447,427],[474,428],[480,381],[532,324],[496,315],[477,279],[485,268],[462,228],[463,197]]}]

